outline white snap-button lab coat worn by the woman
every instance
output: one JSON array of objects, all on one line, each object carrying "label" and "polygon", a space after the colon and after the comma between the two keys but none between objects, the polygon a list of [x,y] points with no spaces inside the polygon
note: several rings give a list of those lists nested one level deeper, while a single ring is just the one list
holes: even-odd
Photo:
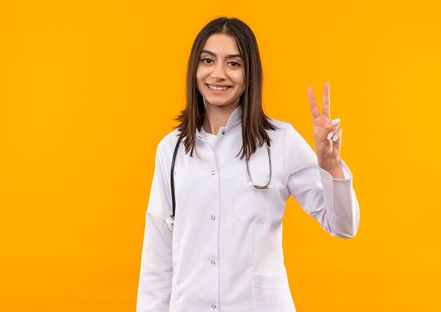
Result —
[{"label": "white snap-button lab coat worn by the woman", "polygon": [[[200,158],[175,160],[175,225],[170,166],[178,130],[159,142],[144,230],[137,312],[294,312],[283,263],[282,218],[292,195],[330,235],[350,238],[359,227],[352,173],[340,158],[344,179],[318,167],[311,146],[289,123],[271,137],[272,189],[248,185],[242,147],[242,106],[218,135],[201,129]],[[266,144],[249,160],[251,179],[266,185]]]}]

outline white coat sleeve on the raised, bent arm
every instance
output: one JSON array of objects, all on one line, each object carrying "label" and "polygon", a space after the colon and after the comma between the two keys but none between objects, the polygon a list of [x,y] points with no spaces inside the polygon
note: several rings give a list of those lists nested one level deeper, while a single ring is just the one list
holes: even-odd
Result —
[{"label": "white coat sleeve on the raised, bent arm", "polygon": [[339,158],[344,179],[333,178],[318,166],[311,146],[289,124],[285,132],[285,177],[290,194],[323,230],[352,238],[359,227],[359,203],[352,187],[352,173]]}]

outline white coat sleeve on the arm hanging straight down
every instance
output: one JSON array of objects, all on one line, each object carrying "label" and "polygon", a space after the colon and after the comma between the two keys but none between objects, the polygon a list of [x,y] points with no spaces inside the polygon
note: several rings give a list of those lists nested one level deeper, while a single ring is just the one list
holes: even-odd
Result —
[{"label": "white coat sleeve on the arm hanging straight down", "polygon": [[170,304],[173,232],[168,230],[166,218],[173,210],[160,145],[146,213],[137,312],[168,312]]}]

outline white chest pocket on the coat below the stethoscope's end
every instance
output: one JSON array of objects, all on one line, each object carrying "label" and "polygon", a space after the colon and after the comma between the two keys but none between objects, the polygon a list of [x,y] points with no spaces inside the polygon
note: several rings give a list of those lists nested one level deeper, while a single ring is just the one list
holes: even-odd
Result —
[{"label": "white chest pocket on the coat below the stethoscope's end", "polygon": [[[266,185],[268,177],[255,177],[256,185]],[[234,180],[234,210],[242,223],[265,223],[270,217],[271,189],[256,189],[248,185],[248,177]]]}]

